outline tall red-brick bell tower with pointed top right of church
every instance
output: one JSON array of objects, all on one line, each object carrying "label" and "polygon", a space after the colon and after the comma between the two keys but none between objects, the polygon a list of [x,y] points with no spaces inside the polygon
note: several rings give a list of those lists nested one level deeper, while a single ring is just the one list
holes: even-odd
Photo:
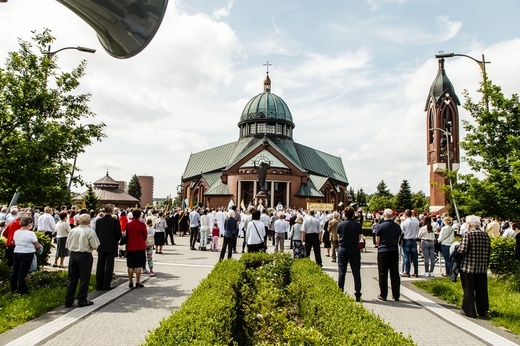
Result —
[{"label": "tall red-brick bell tower with pointed top right of church", "polygon": [[426,100],[426,160],[430,167],[430,211],[444,212],[447,198],[442,185],[448,185],[446,170],[460,167],[459,112],[460,101],[446,71],[444,59]]}]

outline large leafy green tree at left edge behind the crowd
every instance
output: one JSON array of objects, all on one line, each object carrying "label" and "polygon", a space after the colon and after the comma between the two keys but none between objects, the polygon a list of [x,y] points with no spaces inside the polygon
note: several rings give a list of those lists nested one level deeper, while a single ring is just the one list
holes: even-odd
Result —
[{"label": "large leafy green tree at left edge behind the crowd", "polygon": [[33,34],[35,47],[20,39],[20,49],[0,68],[0,200],[18,190],[21,203],[69,204],[70,161],[104,137],[105,124],[81,124],[95,116],[90,94],[73,93],[86,62],[59,73],[56,56],[47,51],[54,41],[50,30]]}]

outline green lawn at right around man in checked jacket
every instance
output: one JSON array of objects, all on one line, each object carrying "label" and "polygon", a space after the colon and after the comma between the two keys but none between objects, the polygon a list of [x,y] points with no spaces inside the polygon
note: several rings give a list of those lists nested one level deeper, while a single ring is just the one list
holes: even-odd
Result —
[{"label": "green lawn at right around man in checked jacket", "polygon": [[[449,304],[462,306],[462,286],[460,278],[451,282],[448,278],[416,281],[418,288]],[[489,319],[496,326],[505,327],[511,333],[520,335],[520,292],[511,289],[503,280],[488,277]]]}]

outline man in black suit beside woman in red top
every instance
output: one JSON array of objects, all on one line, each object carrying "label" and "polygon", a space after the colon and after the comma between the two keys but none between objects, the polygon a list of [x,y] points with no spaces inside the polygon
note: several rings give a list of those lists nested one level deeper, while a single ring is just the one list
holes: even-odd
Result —
[{"label": "man in black suit beside woman in red top", "polygon": [[105,206],[105,216],[96,221],[96,234],[99,238],[98,262],[96,266],[96,290],[111,290],[112,274],[114,273],[114,258],[121,239],[119,221],[112,217],[114,206]]}]

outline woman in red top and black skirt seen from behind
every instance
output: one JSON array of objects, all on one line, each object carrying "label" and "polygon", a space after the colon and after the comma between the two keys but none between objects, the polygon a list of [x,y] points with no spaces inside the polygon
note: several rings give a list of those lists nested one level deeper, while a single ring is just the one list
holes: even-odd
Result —
[{"label": "woman in red top and black skirt seen from behind", "polygon": [[144,287],[141,284],[141,268],[146,263],[146,238],[148,232],[146,225],[139,220],[141,211],[136,209],[132,211],[132,221],[126,225],[126,266],[128,267],[128,287],[134,288],[134,271],[135,271],[135,287]]}]

